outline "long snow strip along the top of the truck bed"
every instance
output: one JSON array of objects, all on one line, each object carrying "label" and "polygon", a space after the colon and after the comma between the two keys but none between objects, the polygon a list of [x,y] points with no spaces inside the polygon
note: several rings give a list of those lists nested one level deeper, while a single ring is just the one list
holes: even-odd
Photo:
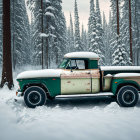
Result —
[{"label": "long snow strip along the top of the truck bed", "polygon": [[140,66],[101,66],[102,71],[116,71],[116,70],[139,70]]}]

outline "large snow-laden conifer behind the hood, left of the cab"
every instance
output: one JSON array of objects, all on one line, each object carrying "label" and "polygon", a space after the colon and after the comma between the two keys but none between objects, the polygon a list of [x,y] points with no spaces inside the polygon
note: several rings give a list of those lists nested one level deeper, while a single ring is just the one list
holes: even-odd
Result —
[{"label": "large snow-laden conifer behind the hood, left of the cab", "polygon": [[[61,0],[46,1],[44,33],[46,34],[46,54],[49,66],[58,64],[66,52],[66,21],[62,12]],[[47,55],[46,55],[47,56]],[[52,66],[51,66],[52,67]]]}]

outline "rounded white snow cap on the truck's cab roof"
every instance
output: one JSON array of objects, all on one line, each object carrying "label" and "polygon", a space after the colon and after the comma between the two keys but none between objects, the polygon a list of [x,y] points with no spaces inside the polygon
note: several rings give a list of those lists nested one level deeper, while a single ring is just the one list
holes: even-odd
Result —
[{"label": "rounded white snow cap on the truck's cab roof", "polygon": [[87,58],[98,60],[100,57],[93,52],[73,52],[64,55],[64,58]]}]

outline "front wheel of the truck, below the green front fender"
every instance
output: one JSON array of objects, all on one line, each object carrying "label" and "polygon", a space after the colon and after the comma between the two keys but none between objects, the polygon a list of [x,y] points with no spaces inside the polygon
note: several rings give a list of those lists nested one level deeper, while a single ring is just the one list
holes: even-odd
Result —
[{"label": "front wheel of the truck, below the green front fender", "polygon": [[24,92],[24,102],[29,108],[45,105],[46,99],[45,91],[37,86],[29,87]]}]

